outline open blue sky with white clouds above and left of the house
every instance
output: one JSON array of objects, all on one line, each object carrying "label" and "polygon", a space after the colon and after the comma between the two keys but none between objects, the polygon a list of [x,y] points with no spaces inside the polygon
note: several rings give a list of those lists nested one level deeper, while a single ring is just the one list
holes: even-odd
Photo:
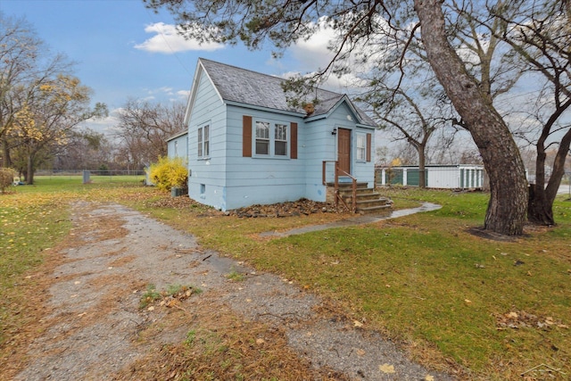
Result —
[{"label": "open blue sky with white clouds above and left of the house", "polygon": [[277,76],[317,70],[327,60],[324,36],[292,47],[279,61],[271,58],[270,46],[258,52],[199,46],[178,36],[169,13],[147,10],[142,0],[0,0],[0,12],[24,18],[53,53],[77,62],[75,74],[94,89],[93,102],[110,111],[129,97],[186,100],[199,57]]}]

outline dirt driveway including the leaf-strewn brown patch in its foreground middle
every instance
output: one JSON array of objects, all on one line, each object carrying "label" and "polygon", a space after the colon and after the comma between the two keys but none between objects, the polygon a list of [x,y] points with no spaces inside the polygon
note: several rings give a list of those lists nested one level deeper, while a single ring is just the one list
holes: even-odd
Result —
[{"label": "dirt driveway including the leaf-strewn brown patch in its foreground middle", "polygon": [[[137,211],[80,202],[72,220],[71,236],[53,249],[53,273],[37,274],[47,279],[44,316],[10,378],[204,379],[193,375],[217,365],[187,359],[207,352],[207,340],[200,347],[194,337],[208,331],[233,337],[227,352],[244,360],[243,370],[255,367],[255,379],[452,379],[288,279],[205,252],[193,236]],[[150,285],[182,287],[145,300]]]}]

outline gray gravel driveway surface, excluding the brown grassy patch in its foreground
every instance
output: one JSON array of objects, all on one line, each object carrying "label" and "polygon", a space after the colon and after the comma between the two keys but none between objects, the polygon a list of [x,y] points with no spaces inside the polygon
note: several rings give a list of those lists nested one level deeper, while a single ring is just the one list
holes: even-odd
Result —
[{"label": "gray gravel driveway surface, excluding the brown grassy patch in its foreground", "polygon": [[[81,202],[72,220],[72,244],[48,275],[50,313],[38,321],[42,333],[29,346],[16,380],[142,379],[134,364],[164,344],[184,341],[188,332],[186,323],[174,324],[153,330],[153,345],[140,343],[142,332],[169,313],[161,306],[140,308],[148,285],[199,286],[203,293],[180,302],[178,311],[198,311],[200,301],[204,308],[280,329],[300,363],[329,369],[330,375],[333,369],[338,378],[452,379],[411,362],[360,322],[324,312],[331,311],[324,301],[287,279],[205,252],[194,236],[137,211]],[[230,273],[243,280],[229,279]],[[149,371],[144,379],[154,379]]]}]

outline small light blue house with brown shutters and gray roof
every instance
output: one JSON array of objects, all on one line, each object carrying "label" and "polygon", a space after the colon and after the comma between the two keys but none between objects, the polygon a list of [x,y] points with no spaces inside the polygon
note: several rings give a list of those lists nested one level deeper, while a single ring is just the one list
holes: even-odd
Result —
[{"label": "small light blue house with brown shutters and gray roof", "polygon": [[192,199],[222,211],[301,198],[325,202],[335,162],[339,182],[354,178],[374,186],[375,122],[347,95],[326,90],[312,95],[319,101],[310,107],[291,107],[282,82],[198,60],[187,135],[169,140],[171,156],[184,153],[181,145],[188,141]]}]

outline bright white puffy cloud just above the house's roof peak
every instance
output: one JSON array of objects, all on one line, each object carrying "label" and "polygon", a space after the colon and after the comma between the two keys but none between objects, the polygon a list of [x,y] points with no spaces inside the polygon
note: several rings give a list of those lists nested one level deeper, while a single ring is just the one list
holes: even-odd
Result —
[{"label": "bright white puffy cloud just above the house's roof peak", "polygon": [[178,34],[178,28],[172,24],[164,22],[155,22],[145,27],[146,33],[154,33],[155,35],[143,42],[137,44],[136,49],[144,50],[151,53],[175,54],[186,51],[214,51],[223,48],[222,44],[205,43],[200,44],[193,39],[186,39]]}]

